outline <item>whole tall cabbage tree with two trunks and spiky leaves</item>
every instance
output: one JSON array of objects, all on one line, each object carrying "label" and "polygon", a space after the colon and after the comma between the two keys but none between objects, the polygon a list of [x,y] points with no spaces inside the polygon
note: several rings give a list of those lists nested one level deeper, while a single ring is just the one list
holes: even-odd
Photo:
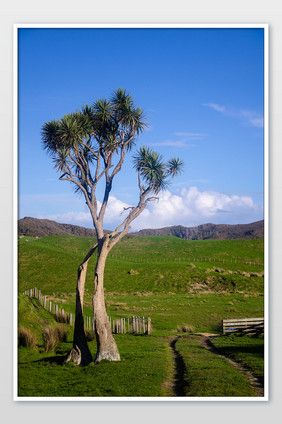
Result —
[{"label": "whole tall cabbage tree with two trunks and spiky leaves", "polygon": [[[83,296],[87,264],[97,251],[93,288],[93,318],[97,340],[95,363],[103,359],[120,360],[112,336],[104,299],[104,270],[111,249],[128,233],[131,222],[167,187],[171,177],[182,169],[182,161],[163,157],[148,147],[141,147],[133,155],[137,173],[138,201],[124,210],[120,224],[105,232],[104,217],[115,176],[122,170],[126,155],[133,149],[136,138],[144,131],[143,110],[134,105],[132,97],[119,88],[108,99],[98,99],[92,105],[69,113],[61,119],[42,126],[43,148],[50,155],[59,179],[71,182],[81,193],[89,208],[97,243],[87,253],[77,274],[76,318],[73,348],[68,360],[86,365],[93,361],[87,346],[83,326]],[[103,187],[99,202],[98,185]]]}]

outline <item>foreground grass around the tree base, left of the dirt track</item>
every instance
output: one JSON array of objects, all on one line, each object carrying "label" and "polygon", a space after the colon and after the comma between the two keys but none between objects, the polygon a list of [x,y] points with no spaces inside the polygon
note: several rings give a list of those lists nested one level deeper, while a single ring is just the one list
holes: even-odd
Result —
[{"label": "foreground grass around the tree base, left of the dirt track", "polygon": [[[19,396],[164,396],[171,361],[167,343],[158,337],[115,336],[121,362],[98,365],[61,365],[70,343],[61,343],[53,354],[19,349]],[[96,344],[89,342],[95,355]]]}]

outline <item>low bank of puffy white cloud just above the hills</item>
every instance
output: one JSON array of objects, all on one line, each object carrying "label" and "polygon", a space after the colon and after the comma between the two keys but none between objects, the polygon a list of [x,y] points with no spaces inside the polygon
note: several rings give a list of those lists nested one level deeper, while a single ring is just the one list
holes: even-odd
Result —
[{"label": "low bank of puffy white cloud just above the hills", "polygon": [[[128,205],[114,196],[109,199],[104,227],[114,229],[127,216]],[[227,195],[216,191],[199,191],[197,187],[183,188],[178,194],[166,190],[159,200],[150,202],[142,214],[132,222],[132,231],[142,228],[161,228],[171,225],[192,227],[208,222],[214,224],[242,224],[263,217],[263,206],[250,196]],[[42,217],[43,218],[43,217]],[[92,227],[86,212],[68,212],[44,218],[59,222]]]}]

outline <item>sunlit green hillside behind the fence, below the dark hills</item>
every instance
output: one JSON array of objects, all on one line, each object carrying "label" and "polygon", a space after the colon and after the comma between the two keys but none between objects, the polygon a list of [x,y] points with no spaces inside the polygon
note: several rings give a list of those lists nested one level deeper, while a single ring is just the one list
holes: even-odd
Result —
[{"label": "sunlit green hillside behind the fence, below the dark hills", "polygon": [[[20,291],[36,286],[48,294],[74,292],[78,265],[94,243],[95,239],[71,236],[21,239]],[[246,263],[250,261],[253,261],[252,265]],[[88,289],[92,289],[94,266],[95,257],[88,266]],[[214,270],[218,267],[233,274],[219,275]],[[132,269],[134,273],[130,273]],[[238,269],[241,274],[235,273]],[[117,293],[186,292],[195,284],[204,283],[206,289],[214,290],[218,286],[218,290],[262,293],[262,277],[242,274],[262,271],[262,240],[191,241],[176,237],[136,237],[122,240],[111,251],[105,270],[105,290]]]}]

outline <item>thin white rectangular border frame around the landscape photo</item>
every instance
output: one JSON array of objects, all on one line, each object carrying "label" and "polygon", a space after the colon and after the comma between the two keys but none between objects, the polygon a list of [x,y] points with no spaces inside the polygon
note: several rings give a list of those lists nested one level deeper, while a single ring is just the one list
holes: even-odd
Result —
[{"label": "thin white rectangular border frame around the landscape photo", "polygon": [[[21,28],[260,28],[264,29],[264,396],[263,397],[19,397],[18,389],[18,29]],[[149,401],[226,402],[269,400],[269,25],[268,24],[14,24],[13,26],[13,400],[14,401]]]}]

